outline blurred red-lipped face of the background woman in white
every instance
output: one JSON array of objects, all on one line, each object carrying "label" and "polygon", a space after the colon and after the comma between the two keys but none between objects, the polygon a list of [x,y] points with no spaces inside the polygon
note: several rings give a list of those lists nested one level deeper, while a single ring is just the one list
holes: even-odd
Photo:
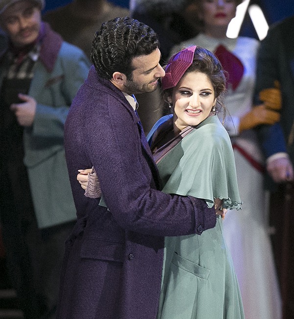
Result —
[{"label": "blurred red-lipped face of the background woman in white", "polygon": [[199,14],[205,27],[225,27],[236,15],[235,0],[202,0],[202,10]]}]

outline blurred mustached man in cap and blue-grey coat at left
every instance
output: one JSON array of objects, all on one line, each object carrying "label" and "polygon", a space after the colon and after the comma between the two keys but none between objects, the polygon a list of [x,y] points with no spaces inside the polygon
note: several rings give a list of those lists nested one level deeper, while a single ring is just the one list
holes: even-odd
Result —
[{"label": "blurred mustached man in cap and blue-grey coat at left", "polygon": [[64,241],[75,221],[63,128],[90,68],[80,49],[41,21],[44,6],[0,0],[9,40],[0,55],[0,223],[24,319],[54,318]]}]

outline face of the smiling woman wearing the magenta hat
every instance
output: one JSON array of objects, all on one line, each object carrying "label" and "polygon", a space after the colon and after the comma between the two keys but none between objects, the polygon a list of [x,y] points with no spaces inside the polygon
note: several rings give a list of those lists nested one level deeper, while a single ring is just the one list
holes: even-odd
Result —
[{"label": "face of the smiling woman wearing the magenta hat", "polygon": [[204,121],[216,104],[213,86],[201,72],[185,74],[173,88],[168,101],[173,105],[174,125],[180,131]]}]

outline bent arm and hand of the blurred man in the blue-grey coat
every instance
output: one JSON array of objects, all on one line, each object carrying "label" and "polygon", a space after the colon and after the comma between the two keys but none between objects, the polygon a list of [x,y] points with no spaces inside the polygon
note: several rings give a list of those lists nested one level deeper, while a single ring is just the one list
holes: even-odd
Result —
[{"label": "bent arm and hand of the blurred man in the blue-grey coat", "polygon": [[[12,106],[20,125],[32,126],[31,133],[34,136],[63,138],[64,123],[70,105],[87,78],[90,62],[84,53],[75,48],[71,55],[68,53],[62,58],[61,67],[61,75],[55,78],[52,76],[52,83],[45,84],[45,86],[50,84],[52,86],[48,89],[51,91],[53,105],[40,104],[34,98],[23,95],[22,99],[25,103]],[[60,100],[65,101],[63,105],[60,104]]]}]

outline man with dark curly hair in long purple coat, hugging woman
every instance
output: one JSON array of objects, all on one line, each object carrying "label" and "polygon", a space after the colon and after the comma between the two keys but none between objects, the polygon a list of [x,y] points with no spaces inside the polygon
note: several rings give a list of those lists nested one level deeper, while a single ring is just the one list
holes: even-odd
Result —
[{"label": "man with dark curly hair in long purple coat, hugging woman", "polygon": [[[155,319],[164,236],[215,226],[216,211],[204,201],[159,191],[133,96],[156,89],[165,75],[159,60],[157,35],[137,20],[116,18],[95,35],[94,66],[65,125],[78,220],[66,243],[57,319]],[[92,166],[97,198],[76,181],[78,169]]]}]

